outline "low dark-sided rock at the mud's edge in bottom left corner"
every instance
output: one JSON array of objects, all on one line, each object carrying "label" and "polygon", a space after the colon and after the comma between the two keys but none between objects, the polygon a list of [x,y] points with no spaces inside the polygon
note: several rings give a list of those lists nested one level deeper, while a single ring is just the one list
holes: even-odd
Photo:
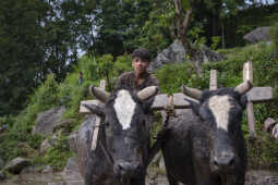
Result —
[{"label": "low dark-sided rock at the mud's edge in bottom left corner", "polygon": [[20,174],[21,171],[29,164],[31,162],[27,159],[17,157],[9,161],[4,170],[8,170],[10,173],[13,173],[13,174]]}]

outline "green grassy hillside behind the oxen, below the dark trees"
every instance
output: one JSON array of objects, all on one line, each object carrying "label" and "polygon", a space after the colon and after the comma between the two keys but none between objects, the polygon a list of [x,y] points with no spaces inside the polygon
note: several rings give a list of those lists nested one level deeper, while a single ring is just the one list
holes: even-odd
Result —
[{"label": "green grassy hillside behind the oxen, below the dark trees", "polygon": [[[209,83],[209,70],[215,69],[219,73],[218,84],[221,87],[234,87],[242,82],[242,67],[245,61],[253,61],[254,86],[271,86],[275,89],[275,99],[271,102],[256,104],[254,107],[256,118],[256,132],[258,135],[254,144],[247,141],[249,168],[278,170],[277,140],[263,132],[263,124],[267,118],[278,119],[278,61],[275,58],[273,44],[256,44],[243,48],[218,50],[226,57],[220,62],[203,64],[203,76],[200,78],[194,73],[192,65],[184,61],[181,64],[169,64],[155,71],[160,82],[161,91],[166,94],[178,92],[182,84],[200,89],[207,89]],[[96,62],[98,61],[98,63]],[[28,159],[31,166],[43,171],[50,165],[53,171],[61,171],[70,157],[75,156],[69,143],[69,136],[78,130],[84,116],[78,114],[81,100],[93,99],[87,87],[90,84],[98,85],[100,78],[109,77],[107,89],[113,86],[114,81],[123,71],[131,70],[131,57],[121,55],[112,62],[111,55],[93,58],[84,55],[77,63],[73,73],[68,73],[67,78],[58,83],[55,75],[49,75],[47,81],[29,97],[26,108],[17,115],[7,119],[8,131],[0,134],[0,157],[8,163],[16,157]],[[85,82],[78,86],[77,73],[82,71]],[[58,126],[52,127],[48,134],[35,133],[34,125],[38,115],[53,108],[63,108],[59,116]],[[159,121],[155,124],[153,133],[159,130]],[[242,125],[247,138],[246,118]],[[43,152],[41,144],[50,140],[49,146]],[[7,171],[5,171],[7,172]]]}]

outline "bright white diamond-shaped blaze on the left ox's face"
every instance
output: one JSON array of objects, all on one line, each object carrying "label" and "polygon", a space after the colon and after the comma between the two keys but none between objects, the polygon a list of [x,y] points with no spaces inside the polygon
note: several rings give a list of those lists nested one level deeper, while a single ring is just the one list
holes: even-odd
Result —
[{"label": "bright white diamond-shaped blaze on the left ox's face", "polygon": [[136,103],[128,90],[120,90],[118,92],[113,108],[123,130],[131,127],[131,121],[135,111],[135,107]]}]

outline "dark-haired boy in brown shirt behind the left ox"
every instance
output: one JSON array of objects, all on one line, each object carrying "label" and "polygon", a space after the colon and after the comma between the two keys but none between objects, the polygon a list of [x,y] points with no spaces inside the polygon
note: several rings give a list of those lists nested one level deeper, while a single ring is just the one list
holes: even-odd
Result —
[{"label": "dark-haired boy in brown shirt behind the left ox", "polygon": [[116,83],[116,88],[129,87],[134,91],[142,90],[148,86],[159,86],[155,76],[147,72],[150,62],[150,53],[146,49],[136,49],[132,53],[132,72],[123,73]]}]

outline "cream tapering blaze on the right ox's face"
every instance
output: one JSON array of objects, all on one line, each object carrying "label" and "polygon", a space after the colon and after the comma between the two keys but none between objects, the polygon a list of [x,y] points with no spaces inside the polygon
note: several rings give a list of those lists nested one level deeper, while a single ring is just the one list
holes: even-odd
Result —
[{"label": "cream tapering blaze on the right ox's face", "polygon": [[213,96],[208,100],[208,107],[211,110],[217,128],[222,128],[228,132],[229,111],[232,104],[229,102],[229,96]]}]

